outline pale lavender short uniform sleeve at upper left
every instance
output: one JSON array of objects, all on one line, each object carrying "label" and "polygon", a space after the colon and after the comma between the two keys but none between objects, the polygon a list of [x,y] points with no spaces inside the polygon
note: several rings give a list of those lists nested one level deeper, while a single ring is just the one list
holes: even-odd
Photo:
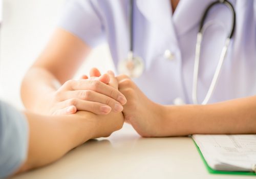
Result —
[{"label": "pale lavender short uniform sleeve at upper left", "polygon": [[89,0],[67,1],[57,26],[76,35],[90,47],[97,46],[105,35],[96,3]]}]

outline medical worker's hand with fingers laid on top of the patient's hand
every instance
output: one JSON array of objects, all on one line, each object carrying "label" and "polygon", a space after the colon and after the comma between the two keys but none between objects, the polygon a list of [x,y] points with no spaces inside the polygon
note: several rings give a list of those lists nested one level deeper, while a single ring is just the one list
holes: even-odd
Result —
[{"label": "medical worker's hand with fingers laid on top of the patient's hand", "polygon": [[[95,70],[92,71],[96,73]],[[126,99],[118,91],[117,86],[117,80],[109,74],[69,80],[54,93],[50,114],[74,114],[77,110],[90,111],[98,115],[106,115],[110,111],[121,112]]]}]

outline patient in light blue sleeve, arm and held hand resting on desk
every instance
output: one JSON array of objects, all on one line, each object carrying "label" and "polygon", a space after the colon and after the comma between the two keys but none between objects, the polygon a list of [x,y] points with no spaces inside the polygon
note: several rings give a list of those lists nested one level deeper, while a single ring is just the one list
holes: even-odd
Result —
[{"label": "patient in light blue sleeve, arm and held hand resting on desk", "polygon": [[[94,80],[104,81],[112,88],[118,86],[111,72]],[[71,106],[71,113],[74,109]],[[122,113],[22,114],[0,101],[0,178],[50,164],[90,139],[110,136],[122,125]]]}]

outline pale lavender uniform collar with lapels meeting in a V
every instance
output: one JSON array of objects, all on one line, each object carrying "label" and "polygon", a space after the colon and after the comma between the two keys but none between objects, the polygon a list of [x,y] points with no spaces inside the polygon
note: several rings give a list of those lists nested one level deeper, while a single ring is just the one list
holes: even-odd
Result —
[{"label": "pale lavender uniform collar with lapels meeting in a V", "polygon": [[[139,11],[164,32],[180,36],[197,26],[206,7],[215,0],[181,0],[173,14],[170,0],[137,0]],[[175,35],[175,34],[172,34]]]}]

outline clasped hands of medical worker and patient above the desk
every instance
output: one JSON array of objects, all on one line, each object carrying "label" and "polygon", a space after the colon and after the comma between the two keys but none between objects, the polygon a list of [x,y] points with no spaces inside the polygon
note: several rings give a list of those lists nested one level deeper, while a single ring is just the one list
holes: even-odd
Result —
[{"label": "clasped hands of medical worker and patient above the desk", "polygon": [[93,138],[111,135],[123,122],[130,123],[143,137],[157,137],[161,131],[163,106],[148,99],[126,75],[115,77],[112,71],[101,75],[92,69],[90,77],[67,81],[53,96],[51,115],[90,113],[98,122]]}]

